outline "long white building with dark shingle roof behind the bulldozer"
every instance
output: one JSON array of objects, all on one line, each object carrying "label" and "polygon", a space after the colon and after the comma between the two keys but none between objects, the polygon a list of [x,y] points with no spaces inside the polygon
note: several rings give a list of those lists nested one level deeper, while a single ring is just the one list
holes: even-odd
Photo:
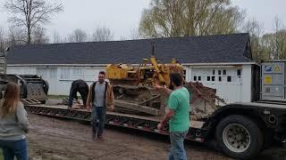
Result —
[{"label": "long white building with dark shingle roof behind the bulldozer", "polygon": [[150,57],[153,42],[156,58],[180,61],[187,81],[215,88],[228,102],[257,99],[259,80],[248,34],[16,45],[7,51],[7,73],[37,74],[48,81],[49,94],[68,95],[73,80],[91,84],[107,64],[140,64]]}]

